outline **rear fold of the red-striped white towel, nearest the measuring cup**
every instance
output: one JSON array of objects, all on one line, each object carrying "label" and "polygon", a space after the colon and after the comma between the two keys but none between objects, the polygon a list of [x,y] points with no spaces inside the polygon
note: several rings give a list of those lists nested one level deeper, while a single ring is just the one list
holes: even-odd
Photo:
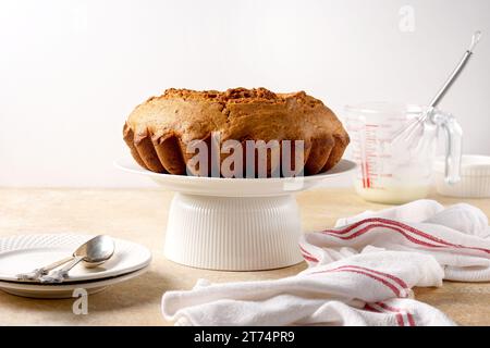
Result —
[{"label": "rear fold of the red-striped white towel, nearest the measuring cup", "polygon": [[488,282],[489,232],[487,216],[473,206],[444,209],[433,200],[418,200],[341,219],[335,228],[304,235],[299,245],[310,265],[369,252],[375,247],[430,254],[443,268],[445,279]]}]

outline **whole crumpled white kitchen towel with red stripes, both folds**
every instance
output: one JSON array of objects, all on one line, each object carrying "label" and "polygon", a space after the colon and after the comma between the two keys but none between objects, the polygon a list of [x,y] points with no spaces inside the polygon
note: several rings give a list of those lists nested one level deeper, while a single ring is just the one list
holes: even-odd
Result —
[{"label": "whole crumpled white kitchen towel with red stripes, both folds", "polygon": [[452,325],[412,297],[442,279],[490,281],[488,221],[478,209],[420,200],[341,219],[306,234],[309,268],[277,281],[168,291],[162,311],[177,325]]}]

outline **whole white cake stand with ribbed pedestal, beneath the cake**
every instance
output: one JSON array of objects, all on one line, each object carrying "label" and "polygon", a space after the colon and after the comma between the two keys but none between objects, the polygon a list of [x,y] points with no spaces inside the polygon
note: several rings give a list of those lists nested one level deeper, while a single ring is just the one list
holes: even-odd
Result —
[{"label": "whole white cake stand with ribbed pedestal, beneath the cake", "polygon": [[114,164],[176,192],[167,225],[168,259],[226,271],[270,270],[301,262],[302,227],[294,194],[355,167],[342,160],[327,173],[298,178],[218,178],[158,174],[132,159]]}]

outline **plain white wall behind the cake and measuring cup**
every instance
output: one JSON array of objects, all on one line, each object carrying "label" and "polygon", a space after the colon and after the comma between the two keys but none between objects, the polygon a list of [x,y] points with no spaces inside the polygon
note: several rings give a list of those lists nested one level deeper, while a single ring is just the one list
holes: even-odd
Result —
[{"label": "plain white wall behind the cake and measuring cup", "polygon": [[[399,27],[415,10],[415,32]],[[0,0],[0,186],[142,186],[112,161],[132,109],[168,87],[304,89],[427,103],[483,38],[443,109],[490,154],[490,1]]]}]

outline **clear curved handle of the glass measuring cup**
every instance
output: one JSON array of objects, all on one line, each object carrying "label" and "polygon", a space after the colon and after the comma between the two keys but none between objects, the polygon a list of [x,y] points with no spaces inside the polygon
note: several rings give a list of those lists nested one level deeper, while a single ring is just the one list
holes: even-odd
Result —
[{"label": "clear curved handle of the glass measuring cup", "polygon": [[445,182],[455,184],[461,176],[463,129],[456,119],[437,109],[430,111],[431,121],[444,130],[445,137]]}]

